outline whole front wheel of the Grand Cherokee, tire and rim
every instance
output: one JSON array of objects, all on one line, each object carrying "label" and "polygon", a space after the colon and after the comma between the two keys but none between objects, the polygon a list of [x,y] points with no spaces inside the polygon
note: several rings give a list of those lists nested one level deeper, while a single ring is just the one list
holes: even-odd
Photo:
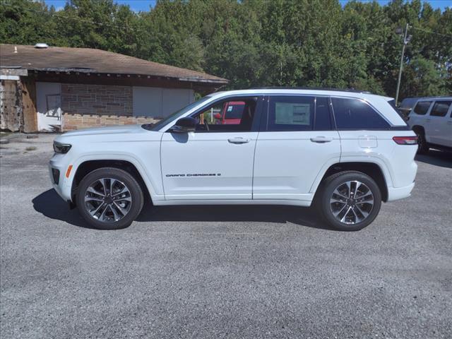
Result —
[{"label": "whole front wheel of the Grand Cherokee, tire and rim", "polygon": [[77,207],[92,227],[128,227],[143,208],[143,191],[128,172],[113,167],[95,169],[78,186]]}]

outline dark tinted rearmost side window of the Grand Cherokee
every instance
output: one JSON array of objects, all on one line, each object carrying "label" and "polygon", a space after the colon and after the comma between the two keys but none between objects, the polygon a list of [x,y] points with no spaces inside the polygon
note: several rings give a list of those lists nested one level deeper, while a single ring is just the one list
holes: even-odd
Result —
[{"label": "dark tinted rearmost side window of the Grand Cherokee", "polygon": [[367,102],[345,97],[332,97],[338,129],[388,129],[391,126]]}]

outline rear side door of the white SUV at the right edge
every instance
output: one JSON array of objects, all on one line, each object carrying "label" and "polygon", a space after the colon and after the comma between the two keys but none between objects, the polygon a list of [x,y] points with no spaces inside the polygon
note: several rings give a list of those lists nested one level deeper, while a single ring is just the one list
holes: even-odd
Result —
[{"label": "rear side door of the white SUV at the right edge", "polygon": [[429,117],[427,117],[430,143],[451,146],[451,125],[448,124],[448,120],[450,121],[448,111],[451,104],[452,100],[437,100],[434,102],[434,105],[430,110]]}]

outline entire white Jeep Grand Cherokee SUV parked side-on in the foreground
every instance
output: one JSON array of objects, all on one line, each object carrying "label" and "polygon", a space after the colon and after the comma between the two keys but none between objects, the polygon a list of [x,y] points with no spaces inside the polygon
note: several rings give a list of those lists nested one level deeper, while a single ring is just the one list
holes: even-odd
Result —
[{"label": "entire white Jeep Grand Cherokee SUV parked side-on in the foreground", "polygon": [[[360,230],[381,201],[408,197],[415,185],[417,138],[391,100],[345,90],[213,93],[153,126],[58,136],[52,183],[101,229],[129,226],[150,199],[153,206],[314,202],[333,227]],[[239,119],[216,121],[231,102],[240,103]]]}]

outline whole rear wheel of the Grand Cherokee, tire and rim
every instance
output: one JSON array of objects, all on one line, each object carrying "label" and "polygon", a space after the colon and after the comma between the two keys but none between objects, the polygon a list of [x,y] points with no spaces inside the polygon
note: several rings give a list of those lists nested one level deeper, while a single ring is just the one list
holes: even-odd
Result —
[{"label": "whole rear wheel of the Grand Cherokee, tire and rim", "polygon": [[362,172],[333,174],[321,189],[321,214],[337,230],[362,230],[374,221],[380,207],[379,186]]}]

